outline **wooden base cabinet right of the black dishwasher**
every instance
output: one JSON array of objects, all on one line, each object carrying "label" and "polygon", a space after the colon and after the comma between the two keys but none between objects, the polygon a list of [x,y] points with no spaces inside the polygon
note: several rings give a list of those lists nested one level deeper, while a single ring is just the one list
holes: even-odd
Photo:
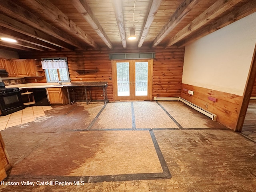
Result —
[{"label": "wooden base cabinet right of the black dishwasher", "polygon": [[47,88],[47,95],[50,104],[68,104],[66,88]]}]

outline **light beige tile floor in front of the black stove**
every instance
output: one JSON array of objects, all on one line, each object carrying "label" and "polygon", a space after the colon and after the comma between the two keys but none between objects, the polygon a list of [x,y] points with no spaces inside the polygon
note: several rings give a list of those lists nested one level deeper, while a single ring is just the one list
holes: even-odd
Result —
[{"label": "light beige tile floor in front of the black stove", "polygon": [[37,117],[45,116],[44,111],[52,110],[51,106],[31,106],[6,116],[0,116],[0,131],[5,128],[32,122]]}]

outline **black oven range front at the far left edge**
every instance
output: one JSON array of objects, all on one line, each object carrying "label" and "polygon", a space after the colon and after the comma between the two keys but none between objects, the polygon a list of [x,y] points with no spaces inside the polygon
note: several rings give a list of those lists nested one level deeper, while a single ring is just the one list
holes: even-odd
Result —
[{"label": "black oven range front at the far left edge", "polygon": [[2,115],[8,115],[24,109],[20,91],[2,93],[0,95],[0,109]]}]

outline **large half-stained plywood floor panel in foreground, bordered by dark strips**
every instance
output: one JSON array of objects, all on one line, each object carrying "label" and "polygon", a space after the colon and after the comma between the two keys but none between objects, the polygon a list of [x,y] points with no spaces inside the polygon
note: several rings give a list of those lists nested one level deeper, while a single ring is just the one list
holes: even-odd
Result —
[{"label": "large half-stained plywood floor panel in foreground, bordered by dark strips", "polygon": [[90,131],[52,134],[11,173],[37,178],[158,172],[163,170],[149,132]]}]

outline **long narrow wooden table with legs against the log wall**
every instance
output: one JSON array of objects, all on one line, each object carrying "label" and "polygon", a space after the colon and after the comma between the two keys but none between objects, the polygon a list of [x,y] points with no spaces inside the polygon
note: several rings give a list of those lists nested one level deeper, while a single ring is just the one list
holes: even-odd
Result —
[{"label": "long narrow wooden table with legs against the log wall", "polygon": [[[72,84],[64,85],[64,86],[67,88],[69,104],[73,104],[74,102],[76,102],[75,99],[71,100],[71,98],[70,98],[69,88],[74,88],[74,87],[83,87],[84,88],[87,105],[90,102],[92,102],[92,94],[90,92],[90,88],[92,88],[92,87],[101,87],[102,91],[103,91],[104,104],[106,104],[108,102],[108,95],[107,95],[108,82],[83,82],[83,83],[72,83]],[[89,99],[88,99],[88,96],[89,96]],[[100,100],[94,100],[94,101],[100,101]]]}]

